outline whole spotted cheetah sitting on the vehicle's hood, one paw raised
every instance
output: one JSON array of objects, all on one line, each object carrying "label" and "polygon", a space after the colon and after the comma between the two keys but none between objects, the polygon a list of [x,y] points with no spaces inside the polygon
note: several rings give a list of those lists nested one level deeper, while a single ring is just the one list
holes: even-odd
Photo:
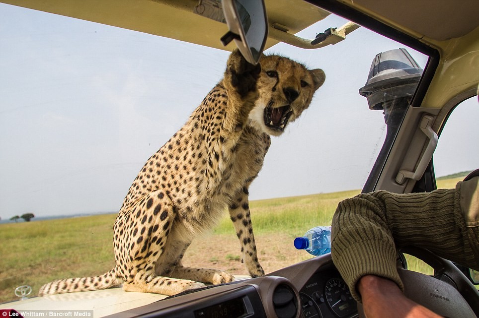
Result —
[{"label": "whole spotted cheetah sitting on the vehicle's hood, one paw raised", "polygon": [[188,268],[183,255],[228,207],[251,276],[264,274],[251,225],[248,188],[270,135],[280,135],[310,105],[320,69],[280,56],[246,63],[239,51],[224,78],[138,174],[114,224],[116,266],[96,277],[54,281],[40,295],[104,289],[173,295],[233,280],[216,269]]}]

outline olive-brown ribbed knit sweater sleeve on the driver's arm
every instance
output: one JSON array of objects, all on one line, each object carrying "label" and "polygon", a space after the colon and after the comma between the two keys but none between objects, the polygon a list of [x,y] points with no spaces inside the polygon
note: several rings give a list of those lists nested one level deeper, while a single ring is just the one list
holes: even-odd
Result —
[{"label": "olive-brown ribbed knit sweater sleeve on the driver's arm", "polygon": [[[429,193],[362,193],[339,203],[332,220],[331,256],[352,296],[368,274],[403,290],[396,249],[416,246],[479,269],[479,178]],[[463,193],[461,194],[461,188]]]}]

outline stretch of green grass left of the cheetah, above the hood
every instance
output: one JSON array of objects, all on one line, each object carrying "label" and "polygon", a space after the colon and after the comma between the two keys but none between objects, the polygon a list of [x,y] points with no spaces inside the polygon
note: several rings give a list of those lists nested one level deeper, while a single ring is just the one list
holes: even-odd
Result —
[{"label": "stretch of green grass left of the cheetah, above the hood", "polygon": [[51,280],[112,268],[115,217],[106,214],[1,224],[0,302],[15,299],[13,290],[20,285],[38,291]]}]

